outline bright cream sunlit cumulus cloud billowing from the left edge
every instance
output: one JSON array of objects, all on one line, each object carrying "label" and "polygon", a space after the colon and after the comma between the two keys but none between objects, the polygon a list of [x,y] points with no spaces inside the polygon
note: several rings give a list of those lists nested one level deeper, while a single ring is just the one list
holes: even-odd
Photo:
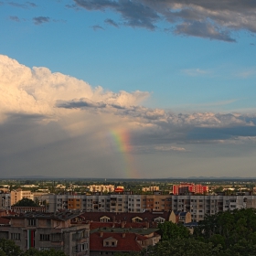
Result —
[{"label": "bright cream sunlit cumulus cloud billowing from the left edge", "polygon": [[47,118],[58,118],[68,110],[56,108],[58,101],[76,101],[88,99],[99,105],[116,104],[118,106],[136,105],[148,92],[104,91],[101,87],[92,89],[83,81],[61,73],[52,73],[47,68],[29,69],[15,59],[0,56],[0,115],[6,113],[38,114]]}]

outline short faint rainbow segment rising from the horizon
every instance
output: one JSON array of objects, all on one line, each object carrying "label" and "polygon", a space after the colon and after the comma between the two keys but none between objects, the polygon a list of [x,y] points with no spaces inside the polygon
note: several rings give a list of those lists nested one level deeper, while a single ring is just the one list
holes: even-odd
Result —
[{"label": "short faint rainbow segment rising from the horizon", "polygon": [[123,171],[127,178],[138,178],[138,172],[134,168],[130,134],[125,130],[112,130],[112,142],[119,153],[123,155]]}]

